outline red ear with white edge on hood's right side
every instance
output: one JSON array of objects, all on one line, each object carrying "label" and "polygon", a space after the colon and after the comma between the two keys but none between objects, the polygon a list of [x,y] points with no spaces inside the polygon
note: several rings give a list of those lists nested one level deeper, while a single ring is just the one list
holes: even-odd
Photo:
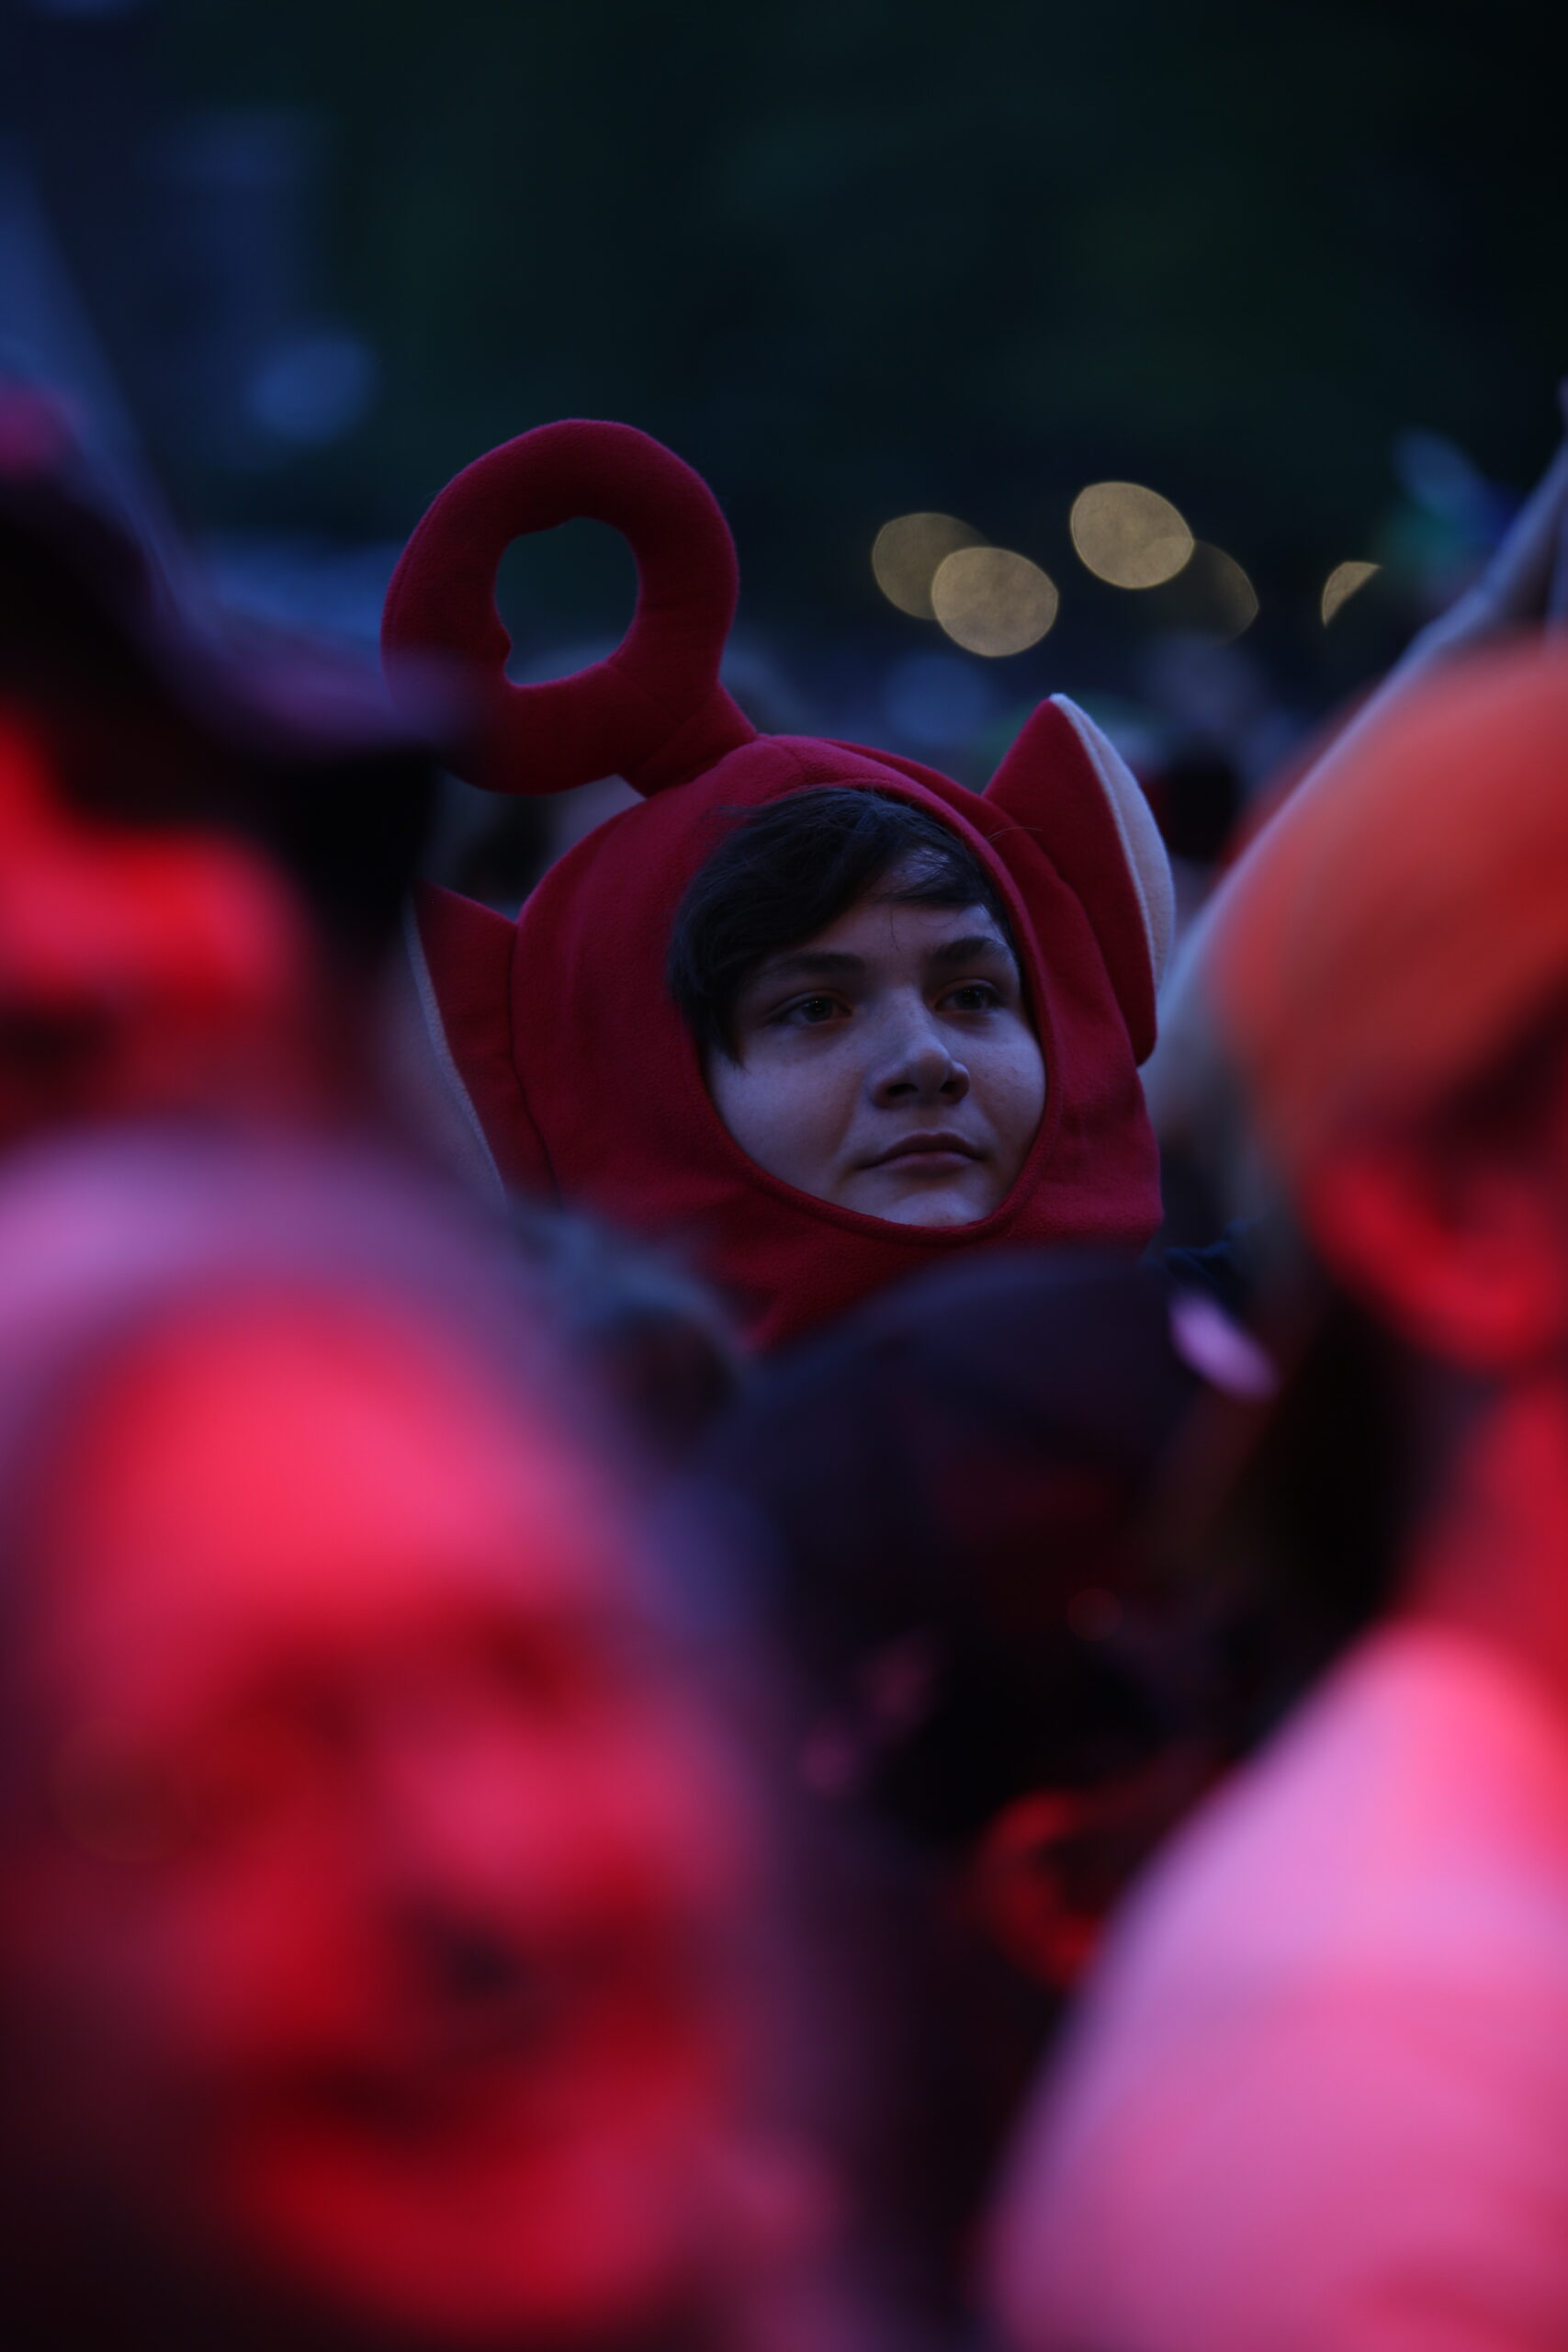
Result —
[{"label": "red ear with white edge on hood's right side", "polygon": [[985,788],[1034,835],[1084,906],[1138,1061],[1154,1051],[1154,995],[1175,922],[1171,861],[1121,753],[1053,694],[1039,703]]}]

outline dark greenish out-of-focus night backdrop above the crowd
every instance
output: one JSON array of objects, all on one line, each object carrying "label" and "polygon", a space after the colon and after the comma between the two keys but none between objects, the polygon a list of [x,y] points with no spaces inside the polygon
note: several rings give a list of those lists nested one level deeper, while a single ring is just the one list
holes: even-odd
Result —
[{"label": "dark greenish out-of-focus night backdrop above the crowd", "polygon": [[[16,0],[12,0],[16,5]],[[1406,428],[1521,485],[1568,365],[1554,7],[1237,0],[148,0],[176,108],[287,108],[301,299],[371,343],[343,440],[160,452],[219,522],[400,536],[482,447],[625,416],[701,466],[769,628],[900,628],[879,522],[1072,574],[1157,485],[1286,652],[1373,543]],[[592,543],[552,597],[623,597]],[[1095,626],[1077,574],[1072,628]],[[1121,614],[1126,600],[1121,600]]]}]

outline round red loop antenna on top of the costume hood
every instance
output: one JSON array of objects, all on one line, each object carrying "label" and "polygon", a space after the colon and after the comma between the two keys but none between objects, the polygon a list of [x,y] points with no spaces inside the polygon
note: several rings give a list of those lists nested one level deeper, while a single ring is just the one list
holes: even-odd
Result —
[{"label": "round red loop antenna on top of the costume hood", "polygon": [[[576,517],[611,522],[630,541],[632,626],[607,661],[512,687],[496,567],[512,539]],[[503,442],[435,499],[393,574],[381,659],[414,724],[421,677],[447,666],[473,682],[477,724],[442,746],[470,783],[564,793],[618,774],[658,793],[752,741],[719,684],[736,595],[736,548],[703,477],[635,426],[576,419]]]}]

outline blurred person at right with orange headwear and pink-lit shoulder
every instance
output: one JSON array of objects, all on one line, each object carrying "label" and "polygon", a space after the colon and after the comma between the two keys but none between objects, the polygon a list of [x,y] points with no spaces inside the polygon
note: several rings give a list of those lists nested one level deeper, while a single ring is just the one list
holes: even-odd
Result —
[{"label": "blurred person at right with orange headwear and pink-lit shoulder", "polygon": [[1389,1383],[1345,1541],[1371,1566],[1387,1534],[1392,1599],[1133,1898],[1016,2154],[994,2300],[1027,2352],[1559,2352],[1563,654],[1371,720],[1265,840],[1215,974],[1307,1242],[1298,1324],[1312,1298]]}]

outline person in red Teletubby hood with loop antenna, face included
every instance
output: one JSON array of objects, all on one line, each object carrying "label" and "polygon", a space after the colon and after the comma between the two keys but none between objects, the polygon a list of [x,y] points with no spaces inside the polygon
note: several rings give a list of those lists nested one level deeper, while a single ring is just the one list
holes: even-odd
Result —
[{"label": "person in red Teletubby hood with loop antenna, face included", "polygon": [[[576,515],[630,539],[632,626],[595,668],[512,687],[496,564]],[[388,680],[416,699],[442,663],[463,673],[477,717],[442,746],[458,774],[555,793],[618,771],[644,795],[515,924],[421,896],[430,1042],[494,1171],[682,1247],[757,1345],[959,1247],[1138,1251],[1159,1223],[1138,1063],[1171,877],[1131,771],[1060,696],[985,793],[891,753],[757,736],[719,687],[733,604],[712,494],[616,423],[494,449],[402,555]],[[865,828],[860,802],[882,811]],[[712,962],[686,953],[693,896],[722,861],[743,901],[743,868],[771,887],[769,840],[797,870],[827,842],[844,889],[804,891],[804,927],[752,927],[752,962],[715,995]]]}]

